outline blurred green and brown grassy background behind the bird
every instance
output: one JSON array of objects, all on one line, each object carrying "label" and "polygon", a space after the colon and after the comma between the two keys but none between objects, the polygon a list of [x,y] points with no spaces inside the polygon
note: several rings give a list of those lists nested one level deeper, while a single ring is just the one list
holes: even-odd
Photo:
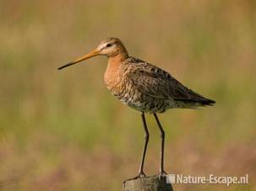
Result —
[{"label": "blurred green and brown grassy background behind the bird", "polygon": [[[139,168],[139,112],[103,83],[106,58],[57,71],[115,36],[129,54],[171,72],[215,107],[170,109],[166,171],[249,175],[247,185],[175,184],[175,190],[256,188],[256,2],[0,2],[0,190],[121,190]],[[145,172],[159,168],[159,132],[147,115]]]}]

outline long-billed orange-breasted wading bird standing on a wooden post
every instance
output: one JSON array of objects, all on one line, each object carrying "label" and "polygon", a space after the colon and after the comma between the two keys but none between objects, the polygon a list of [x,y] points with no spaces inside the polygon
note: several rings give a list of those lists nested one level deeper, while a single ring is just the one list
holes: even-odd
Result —
[{"label": "long-billed orange-breasted wading bird standing on a wooden post", "polygon": [[165,130],[157,114],[167,109],[196,109],[201,106],[213,106],[214,100],[204,98],[190,88],[182,85],[176,78],[160,67],[128,55],[128,50],[118,38],[111,37],[101,43],[90,53],[58,67],[61,70],[67,66],[80,63],[94,56],[106,56],[108,63],[104,74],[106,88],[121,102],[140,112],[144,127],[144,148],[136,177],[144,178],[144,159],[150,140],[145,114],[153,114],[160,130],[160,176],[165,176],[164,146]]}]

